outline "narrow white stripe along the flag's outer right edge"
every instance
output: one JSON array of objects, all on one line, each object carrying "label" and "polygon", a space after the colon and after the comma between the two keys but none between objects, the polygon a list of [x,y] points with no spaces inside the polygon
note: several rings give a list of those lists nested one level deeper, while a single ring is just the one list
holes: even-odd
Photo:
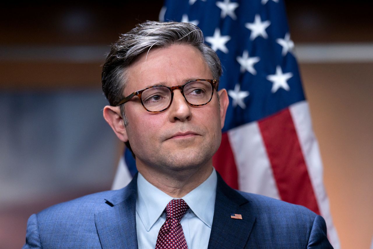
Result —
[{"label": "narrow white stripe along the flag's outer right edge", "polygon": [[297,130],[317,205],[319,206],[320,214],[326,222],[329,241],[335,249],[339,249],[341,246],[338,234],[333,225],[332,216],[330,215],[329,199],[323,184],[323,166],[319,153],[319,145],[313,133],[308,103],[306,101],[298,102],[291,105],[289,110],[295,129]]}]

